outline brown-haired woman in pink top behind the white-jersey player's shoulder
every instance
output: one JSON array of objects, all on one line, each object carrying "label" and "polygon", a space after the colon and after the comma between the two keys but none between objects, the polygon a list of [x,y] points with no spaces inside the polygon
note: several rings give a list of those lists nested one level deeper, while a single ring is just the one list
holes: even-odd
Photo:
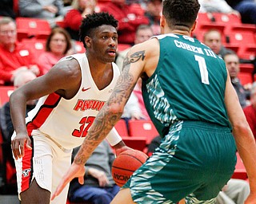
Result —
[{"label": "brown-haired woman in pink top behind the white-jersey player's shoulder", "polygon": [[48,71],[71,49],[70,34],[65,29],[54,28],[46,41],[46,52],[38,58],[42,74]]}]

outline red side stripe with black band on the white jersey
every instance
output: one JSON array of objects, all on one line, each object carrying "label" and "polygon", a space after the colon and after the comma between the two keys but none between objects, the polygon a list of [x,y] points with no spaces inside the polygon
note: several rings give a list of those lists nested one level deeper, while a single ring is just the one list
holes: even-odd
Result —
[{"label": "red side stripe with black band on the white jersey", "polygon": [[58,105],[58,102],[61,100],[62,96],[59,96],[57,93],[51,93],[47,96],[46,101],[42,104],[41,108],[38,110],[36,116],[32,120],[34,127],[40,128],[42,124],[46,121],[50,113],[54,110],[54,108]]}]

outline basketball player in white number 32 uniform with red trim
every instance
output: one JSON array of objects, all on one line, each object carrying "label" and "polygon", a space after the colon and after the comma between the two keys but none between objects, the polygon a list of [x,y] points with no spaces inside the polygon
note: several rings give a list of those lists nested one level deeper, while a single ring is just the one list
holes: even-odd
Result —
[{"label": "basketball player in white number 32 uniform with red trim", "polygon": [[[62,58],[49,73],[10,96],[11,146],[22,204],[66,203],[68,186],[53,202],[50,194],[70,167],[72,149],[82,144],[117,83],[117,26],[107,13],[86,16],[80,27],[86,53]],[[26,101],[38,98],[25,120]],[[108,139],[119,152],[128,148],[114,129]]]}]

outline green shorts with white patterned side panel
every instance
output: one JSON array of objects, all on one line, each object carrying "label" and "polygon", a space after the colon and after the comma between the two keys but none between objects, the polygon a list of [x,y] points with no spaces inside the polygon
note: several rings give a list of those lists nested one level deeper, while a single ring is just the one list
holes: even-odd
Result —
[{"label": "green shorts with white patterned side panel", "polygon": [[235,153],[230,128],[180,121],[123,188],[137,203],[214,203],[234,173]]}]

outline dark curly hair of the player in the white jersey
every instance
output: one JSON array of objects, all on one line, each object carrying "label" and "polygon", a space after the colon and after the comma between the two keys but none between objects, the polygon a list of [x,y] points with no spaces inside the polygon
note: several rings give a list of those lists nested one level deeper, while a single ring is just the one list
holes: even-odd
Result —
[{"label": "dark curly hair of the player in the white jersey", "polygon": [[92,31],[102,25],[110,25],[114,28],[117,28],[118,20],[116,20],[113,15],[108,14],[107,12],[87,14],[86,17],[82,19],[82,24],[79,29],[79,39],[82,41],[85,47],[85,37],[90,37]]}]

